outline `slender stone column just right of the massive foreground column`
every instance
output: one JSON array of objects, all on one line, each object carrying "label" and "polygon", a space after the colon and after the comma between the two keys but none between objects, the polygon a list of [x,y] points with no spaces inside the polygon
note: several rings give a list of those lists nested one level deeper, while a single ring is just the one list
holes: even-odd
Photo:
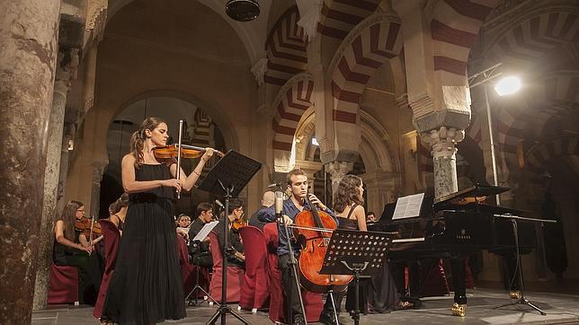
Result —
[{"label": "slender stone column just right of the massive foreground column", "polygon": [[56,219],[65,108],[67,106],[67,92],[70,89],[70,79],[76,78],[78,49],[67,51],[67,53],[58,53],[58,62],[57,78],[52,96],[52,110],[50,111],[47,163],[44,171],[44,199],[42,201],[42,220],[40,221],[38,270],[34,285],[34,310],[46,308],[48,299],[49,268],[52,260],[51,247],[54,238],[52,227]]}]

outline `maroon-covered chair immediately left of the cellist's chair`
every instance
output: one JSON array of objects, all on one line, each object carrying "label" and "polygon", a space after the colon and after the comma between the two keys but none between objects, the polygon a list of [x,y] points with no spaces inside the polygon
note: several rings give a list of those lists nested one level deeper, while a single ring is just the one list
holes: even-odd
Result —
[{"label": "maroon-covered chair immediately left of the cellist's chair", "polygon": [[270,296],[268,287],[268,257],[265,237],[259,228],[247,225],[239,230],[245,245],[245,281],[241,285],[239,307],[257,312]]}]

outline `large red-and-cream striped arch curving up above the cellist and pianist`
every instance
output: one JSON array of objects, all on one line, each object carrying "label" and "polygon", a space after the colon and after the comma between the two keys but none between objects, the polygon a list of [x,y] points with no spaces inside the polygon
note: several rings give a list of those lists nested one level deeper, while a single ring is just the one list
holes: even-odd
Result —
[{"label": "large red-and-cream striped arch curving up above the cellist and pianist", "polygon": [[389,58],[400,54],[401,34],[397,17],[376,13],[343,40],[328,69],[332,74],[334,121],[356,123],[358,102],[366,83]]}]

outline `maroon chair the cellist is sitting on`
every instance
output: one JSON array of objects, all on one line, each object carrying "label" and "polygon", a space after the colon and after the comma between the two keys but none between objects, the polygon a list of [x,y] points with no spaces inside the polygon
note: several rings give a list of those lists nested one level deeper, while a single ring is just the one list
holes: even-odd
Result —
[{"label": "maroon chair the cellist is sitting on", "polygon": [[[265,224],[263,226],[263,235],[265,236],[270,266],[270,311],[268,316],[271,321],[284,322],[286,319],[286,308],[283,286],[281,285],[281,270],[278,268],[278,225],[276,223]],[[302,288],[301,297],[304,301],[307,321],[319,321],[320,313],[324,309],[322,294],[315,294]]]}]

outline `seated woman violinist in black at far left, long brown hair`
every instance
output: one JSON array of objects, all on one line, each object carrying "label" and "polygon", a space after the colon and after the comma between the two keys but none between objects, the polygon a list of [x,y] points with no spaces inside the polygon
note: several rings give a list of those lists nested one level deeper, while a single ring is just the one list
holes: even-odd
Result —
[{"label": "seated woman violinist in black at far left, long brown hair", "polygon": [[[89,242],[80,226],[86,230],[84,217],[85,205],[78,201],[69,201],[54,226],[54,246],[52,261],[58,266],[78,268],[79,301],[93,303],[100,286],[99,269],[91,263],[93,245],[102,240],[102,236]],[[90,222],[90,220],[89,220]],[[90,236],[90,235],[89,235]],[[87,295],[90,295],[87,296]]]}]

